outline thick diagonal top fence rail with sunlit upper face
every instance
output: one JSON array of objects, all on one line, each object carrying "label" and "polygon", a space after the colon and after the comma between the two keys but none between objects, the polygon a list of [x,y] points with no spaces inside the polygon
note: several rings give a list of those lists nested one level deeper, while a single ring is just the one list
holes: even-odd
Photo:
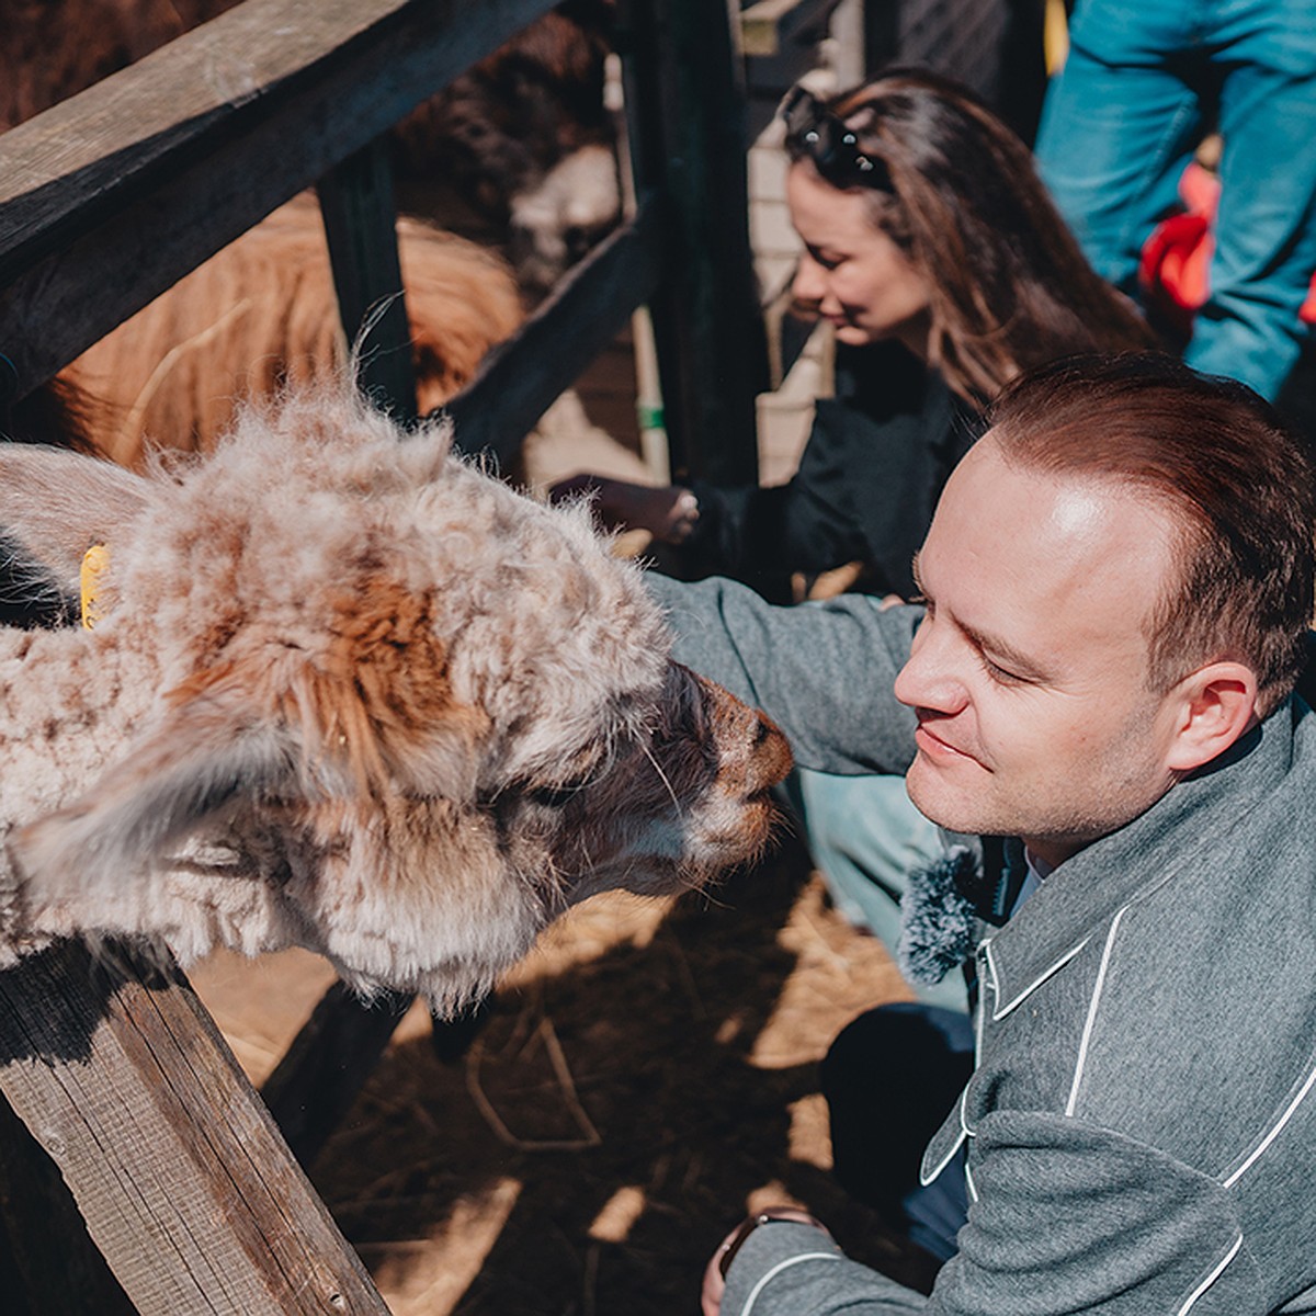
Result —
[{"label": "thick diagonal top fence rail with sunlit upper face", "polygon": [[317,0],[308,22],[304,0],[246,0],[0,134],[14,395],[549,8]]}]

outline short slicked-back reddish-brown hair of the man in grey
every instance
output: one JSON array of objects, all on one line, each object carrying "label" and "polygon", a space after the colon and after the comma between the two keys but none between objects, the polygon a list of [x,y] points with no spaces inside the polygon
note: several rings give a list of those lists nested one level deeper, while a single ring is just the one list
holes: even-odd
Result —
[{"label": "short slicked-back reddish-brown hair of the man in grey", "polygon": [[1146,625],[1154,684],[1232,659],[1257,674],[1262,716],[1284,699],[1312,622],[1316,479],[1269,403],[1171,357],[1121,353],[1029,371],[988,418],[1007,461],[1113,478],[1173,508],[1178,579]]}]

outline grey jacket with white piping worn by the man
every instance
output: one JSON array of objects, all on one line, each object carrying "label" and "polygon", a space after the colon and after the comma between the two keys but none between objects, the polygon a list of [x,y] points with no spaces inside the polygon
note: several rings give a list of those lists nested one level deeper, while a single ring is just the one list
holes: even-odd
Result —
[{"label": "grey jacket with white piping worn by the man", "polygon": [[[796,758],[901,771],[891,686],[917,608],[770,608],[654,580],[676,657]],[[930,1298],[808,1225],[749,1236],[722,1316],[1316,1311],[1316,717],[1294,696],[1128,826],[979,924],[974,1076],[923,1162],[967,1144],[969,1221]],[[900,1082],[892,1057],[892,1082]]]}]

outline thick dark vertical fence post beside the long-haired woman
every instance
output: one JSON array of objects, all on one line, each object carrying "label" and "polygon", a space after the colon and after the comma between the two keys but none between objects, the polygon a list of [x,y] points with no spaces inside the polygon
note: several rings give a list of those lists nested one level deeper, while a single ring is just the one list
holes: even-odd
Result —
[{"label": "thick dark vertical fence post beside the long-haired woman", "polygon": [[650,303],[672,476],[753,484],[767,343],[749,242],[745,96],[720,0],[619,4],[637,184],[670,199]]}]

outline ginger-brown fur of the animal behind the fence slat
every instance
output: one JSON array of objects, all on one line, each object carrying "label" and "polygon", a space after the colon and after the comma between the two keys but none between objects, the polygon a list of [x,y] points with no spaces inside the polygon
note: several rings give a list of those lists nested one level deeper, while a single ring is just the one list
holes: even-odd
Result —
[{"label": "ginger-brown fur of the animal behind the fence slat", "polygon": [[[422,413],[474,378],[522,318],[507,263],[418,220],[397,251]],[[365,345],[368,351],[368,340]],[[242,397],[337,375],[345,357],[315,197],[299,196],[88,349],[62,379],[92,401],[89,430],[139,468],[153,443],[207,450]]]}]

